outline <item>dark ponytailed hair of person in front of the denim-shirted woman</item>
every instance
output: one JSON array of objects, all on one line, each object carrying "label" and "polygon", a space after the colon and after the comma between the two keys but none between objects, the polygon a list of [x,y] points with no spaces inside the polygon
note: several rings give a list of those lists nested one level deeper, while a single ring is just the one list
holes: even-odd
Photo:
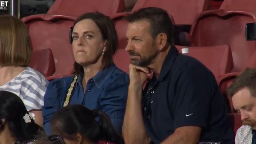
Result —
[{"label": "dark ponytailed hair of person in front of the denim-shirted woman", "polygon": [[[99,121],[95,119],[97,117]],[[69,105],[56,111],[52,117],[52,129],[63,138],[71,140],[74,139],[74,135],[80,133],[93,142],[107,140],[115,144],[124,144],[124,140],[115,131],[105,113],[91,111],[83,105]]]}]

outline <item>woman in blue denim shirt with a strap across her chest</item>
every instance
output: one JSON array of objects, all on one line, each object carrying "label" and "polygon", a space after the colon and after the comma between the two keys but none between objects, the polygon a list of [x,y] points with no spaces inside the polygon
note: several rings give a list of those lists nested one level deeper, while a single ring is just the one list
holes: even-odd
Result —
[{"label": "woman in blue denim shirt with a strap across her chest", "polygon": [[113,63],[117,50],[113,22],[101,13],[86,13],[70,28],[70,43],[75,58],[74,75],[48,84],[42,107],[46,134],[52,134],[54,112],[68,104],[82,104],[108,114],[121,133],[129,76]]}]

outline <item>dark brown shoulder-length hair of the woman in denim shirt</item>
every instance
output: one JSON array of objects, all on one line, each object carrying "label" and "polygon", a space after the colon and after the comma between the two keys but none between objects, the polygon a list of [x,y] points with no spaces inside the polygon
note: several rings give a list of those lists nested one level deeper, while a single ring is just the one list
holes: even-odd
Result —
[{"label": "dark brown shoulder-length hair of the woman in denim shirt", "polygon": [[[103,15],[99,12],[85,13],[84,15],[81,15],[74,22],[74,26],[76,25],[76,23],[84,19],[93,20],[100,29],[103,39],[107,40],[107,49],[102,59],[102,69],[107,69],[113,63],[113,55],[117,50],[117,31],[115,30],[115,26],[108,16]],[[83,66],[75,62],[74,74],[81,73],[84,73]]]}]

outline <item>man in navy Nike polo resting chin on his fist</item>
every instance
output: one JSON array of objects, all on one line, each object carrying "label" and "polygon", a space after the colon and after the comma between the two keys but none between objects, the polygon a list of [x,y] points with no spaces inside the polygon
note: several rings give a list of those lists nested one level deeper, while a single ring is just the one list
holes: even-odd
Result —
[{"label": "man in navy Nike polo resting chin on his fist", "polygon": [[125,142],[234,143],[226,103],[215,77],[197,59],[178,53],[168,13],[148,7],[126,20],[126,51],[131,64],[122,127]]}]

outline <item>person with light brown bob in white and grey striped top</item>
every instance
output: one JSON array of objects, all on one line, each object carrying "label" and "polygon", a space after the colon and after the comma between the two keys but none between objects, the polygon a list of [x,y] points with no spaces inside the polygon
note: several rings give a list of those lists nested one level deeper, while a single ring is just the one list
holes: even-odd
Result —
[{"label": "person with light brown bob in white and grey striped top", "polygon": [[[28,67],[30,58],[31,43],[25,24],[9,15],[0,16],[0,90],[13,92],[28,111],[34,111],[44,104],[48,81]],[[35,117],[37,121],[42,116]]]}]

